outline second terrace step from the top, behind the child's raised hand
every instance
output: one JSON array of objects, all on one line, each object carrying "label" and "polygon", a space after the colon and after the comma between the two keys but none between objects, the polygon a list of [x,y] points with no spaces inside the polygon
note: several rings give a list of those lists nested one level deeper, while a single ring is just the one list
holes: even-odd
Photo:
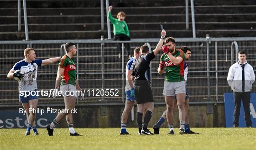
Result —
[{"label": "second terrace step from the top, behind the child's raised hand", "polygon": [[[112,15],[124,11],[127,16],[132,14],[185,14],[185,6],[166,7],[129,7],[114,8]],[[23,9],[21,9],[23,15]],[[225,13],[256,13],[256,5],[233,5],[233,6],[195,6],[195,14],[208,14],[209,12]],[[106,13],[106,12],[104,12]],[[191,10],[189,10],[191,13]],[[101,15],[101,8],[27,8],[27,15]],[[18,8],[0,8],[0,16],[17,16]]]}]

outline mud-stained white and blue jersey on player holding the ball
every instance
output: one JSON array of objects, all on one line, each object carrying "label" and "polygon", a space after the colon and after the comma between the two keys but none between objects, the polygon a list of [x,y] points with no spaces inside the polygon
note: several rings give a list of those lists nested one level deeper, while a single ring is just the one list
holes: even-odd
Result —
[{"label": "mud-stained white and blue jersey on player holding the ball", "polygon": [[18,91],[32,91],[37,89],[37,69],[41,66],[42,60],[36,59],[28,63],[25,59],[18,61],[13,70],[24,72],[24,78],[18,81]]}]

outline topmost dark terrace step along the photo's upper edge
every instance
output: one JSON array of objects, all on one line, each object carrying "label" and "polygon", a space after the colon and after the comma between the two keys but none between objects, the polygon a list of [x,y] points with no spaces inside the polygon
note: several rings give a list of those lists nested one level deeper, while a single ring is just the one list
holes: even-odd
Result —
[{"label": "topmost dark terrace step along the photo's upper edge", "polygon": [[[27,8],[100,7],[99,0],[26,0]],[[3,8],[17,8],[17,0],[1,0]],[[184,0],[111,0],[114,7],[184,6]],[[256,5],[255,0],[195,0],[194,6]]]}]

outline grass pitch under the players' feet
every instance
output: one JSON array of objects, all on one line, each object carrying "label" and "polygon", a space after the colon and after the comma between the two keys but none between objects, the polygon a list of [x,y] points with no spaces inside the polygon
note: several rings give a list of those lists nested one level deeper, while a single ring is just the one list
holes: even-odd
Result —
[{"label": "grass pitch under the players' feet", "polygon": [[[25,129],[0,129],[0,150],[256,150],[256,128],[192,128],[200,134],[119,135],[119,128],[75,128],[83,136],[69,136],[68,128],[56,128],[54,136],[39,128],[39,136],[24,136]],[[153,131],[153,129],[151,128]],[[31,131],[33,132],[33,131]]]}]

